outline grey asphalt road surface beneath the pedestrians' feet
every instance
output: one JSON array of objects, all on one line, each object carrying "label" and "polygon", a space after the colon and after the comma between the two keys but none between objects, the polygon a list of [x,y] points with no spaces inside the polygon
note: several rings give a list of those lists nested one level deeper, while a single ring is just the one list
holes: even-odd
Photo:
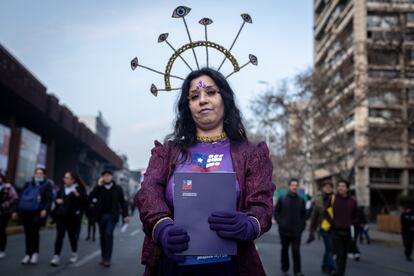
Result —
[{"label": "grey asphalt road surface beneath the pedestrians' feet", "polygon": [[[280,244],[277,236],[277,227],[263,236],[258,242],[259,253],[265,265],[267,275],[280,275],[279,252]],[[85,227],[83,229],[85,231]],[[92,276],[92,275],[141,275],[143,267],[139,264],[140,248],[143,233],[135,217],[126,232],[117,229],[112,266],[102,268],[100,261],[99,244],[85,241],[82,233],[79,244],[79,262],[69,265],[70,248],[65,240],[62,253],[62,263],[59,267],[49,266],[53,253],[55,231],[47,230],[41,233],[40,262],[37,266],[23,266],[20,260],[23,257],[24,240],[22,235],[9,237],[7,253],[4,260],[0,260],[1,275],[8,276]],[[385,244],[371,244],[361,246],[362,258],[360,262],[349,260],[348,275],[375,275],[375,276],[403,276],[414,275],[414,263],[408,263],[403,258],[400,247]],[[302,246],[303,272],[305,275],[322,275],[320,262],[322,258],[322,243],[315,241],[311,245]]]}]

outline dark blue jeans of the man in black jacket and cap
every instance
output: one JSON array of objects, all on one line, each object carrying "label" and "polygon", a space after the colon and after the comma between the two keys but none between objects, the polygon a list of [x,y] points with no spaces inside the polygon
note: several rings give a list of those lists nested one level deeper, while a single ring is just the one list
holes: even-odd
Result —
[{"label": "dark blue jeans of the man in black jacket and cap", "polygon": [[110,261],[114,244],[115,219],[112,214],[103,214],[99,219],[101,255],[103,261]]}]

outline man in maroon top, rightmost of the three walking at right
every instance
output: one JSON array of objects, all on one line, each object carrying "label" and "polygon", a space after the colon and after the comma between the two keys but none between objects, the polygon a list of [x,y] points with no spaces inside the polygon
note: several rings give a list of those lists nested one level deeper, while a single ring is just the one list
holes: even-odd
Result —
[{"label": "man in maroon top, rightmost of the three walking at right", "polygon": [[336,254],[336,273],[345,275],[348,249],[351,245],[351,226],[357,218],[357,204],[349,194],[350,184],[347,180],[339,180],[333,206],[333,241]]}]

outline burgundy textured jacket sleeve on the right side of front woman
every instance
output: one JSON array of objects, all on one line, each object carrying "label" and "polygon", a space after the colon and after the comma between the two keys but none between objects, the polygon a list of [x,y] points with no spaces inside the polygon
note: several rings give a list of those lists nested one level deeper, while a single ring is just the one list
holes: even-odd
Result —
[{"label": "burgundy textured jacket sleeve on the right side of front woman", "polygon": [[266,144],[262,142],[253,147],[246,162],[244,212],[259,221],[262,235],[272,226],[273,193],[276,188],[272,182],[273,165]]}]

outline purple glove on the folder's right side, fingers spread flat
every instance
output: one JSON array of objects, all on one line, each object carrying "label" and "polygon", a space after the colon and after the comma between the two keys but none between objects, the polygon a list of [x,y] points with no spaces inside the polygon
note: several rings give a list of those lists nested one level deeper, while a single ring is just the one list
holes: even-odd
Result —
[{"label": "purple glove on the folder's right side, fingers spread flat", "polygon": [[208,218],[210,229],[224,239],[252,241],[259,235],[257,221],[243,212],[219,211]]}]

